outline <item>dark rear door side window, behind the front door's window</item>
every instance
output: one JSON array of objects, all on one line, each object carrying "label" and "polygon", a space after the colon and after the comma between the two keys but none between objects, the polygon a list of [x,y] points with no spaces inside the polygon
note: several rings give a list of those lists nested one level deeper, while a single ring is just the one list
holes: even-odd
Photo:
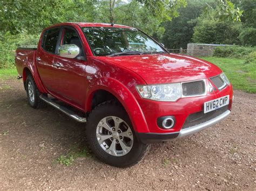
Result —
[{"label": "dark rear door side window, behind the front door's window", "polygon": [[58,42],[60,28],[50,29],[45,31],[43,38],[43,49],[55,53],[56,45]]}]

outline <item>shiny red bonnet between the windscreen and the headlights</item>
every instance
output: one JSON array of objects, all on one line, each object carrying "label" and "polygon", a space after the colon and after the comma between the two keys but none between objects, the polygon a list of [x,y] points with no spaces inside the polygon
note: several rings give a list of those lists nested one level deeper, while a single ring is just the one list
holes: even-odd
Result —
[{"label": "shiny red bonnet between the windscreen and the headlights", "polygon": [[219,67],[204,60],[179,54],[144,54],[142,56],[98,57],[105,62],[127,67],[147,84],[163,84],[217,76]]}]

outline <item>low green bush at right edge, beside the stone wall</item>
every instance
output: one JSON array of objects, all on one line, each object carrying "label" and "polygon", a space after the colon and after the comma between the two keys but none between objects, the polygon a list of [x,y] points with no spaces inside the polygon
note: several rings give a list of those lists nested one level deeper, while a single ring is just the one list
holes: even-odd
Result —
[{"label": "low green bush at right edge, beside the stone wall", "polygon": [[218,46],[214,49],[213,56],[246,58],[253,51],[256,51],[256,47]]}]

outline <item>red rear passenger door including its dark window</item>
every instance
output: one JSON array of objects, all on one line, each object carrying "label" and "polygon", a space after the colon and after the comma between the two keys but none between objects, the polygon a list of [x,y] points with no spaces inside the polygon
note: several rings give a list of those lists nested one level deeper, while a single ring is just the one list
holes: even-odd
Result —
[{"label": "red rear passenger door including its dark window", "polygon": [[58,84],[56,83],[56,68],[53,60],[56,57],[57,44],[60,42],[61,28],[46,30],[43,34],[41,46],[37,49],[37,69],[44,87],[51,93],[56,94]]}]

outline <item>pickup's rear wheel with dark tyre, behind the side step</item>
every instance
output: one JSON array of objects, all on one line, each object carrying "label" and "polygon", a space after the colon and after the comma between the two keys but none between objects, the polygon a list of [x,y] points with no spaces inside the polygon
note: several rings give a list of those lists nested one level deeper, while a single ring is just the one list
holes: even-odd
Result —
[{"label": "pickup's rear wheel with dark tyre, behind the side step", "polygon": [[36,86],[35,80],[31,75],[26,78],[26,95],[28,97],[29,105],[33,108],[42,108],[46,103],[39,98],[40,92]]}]

